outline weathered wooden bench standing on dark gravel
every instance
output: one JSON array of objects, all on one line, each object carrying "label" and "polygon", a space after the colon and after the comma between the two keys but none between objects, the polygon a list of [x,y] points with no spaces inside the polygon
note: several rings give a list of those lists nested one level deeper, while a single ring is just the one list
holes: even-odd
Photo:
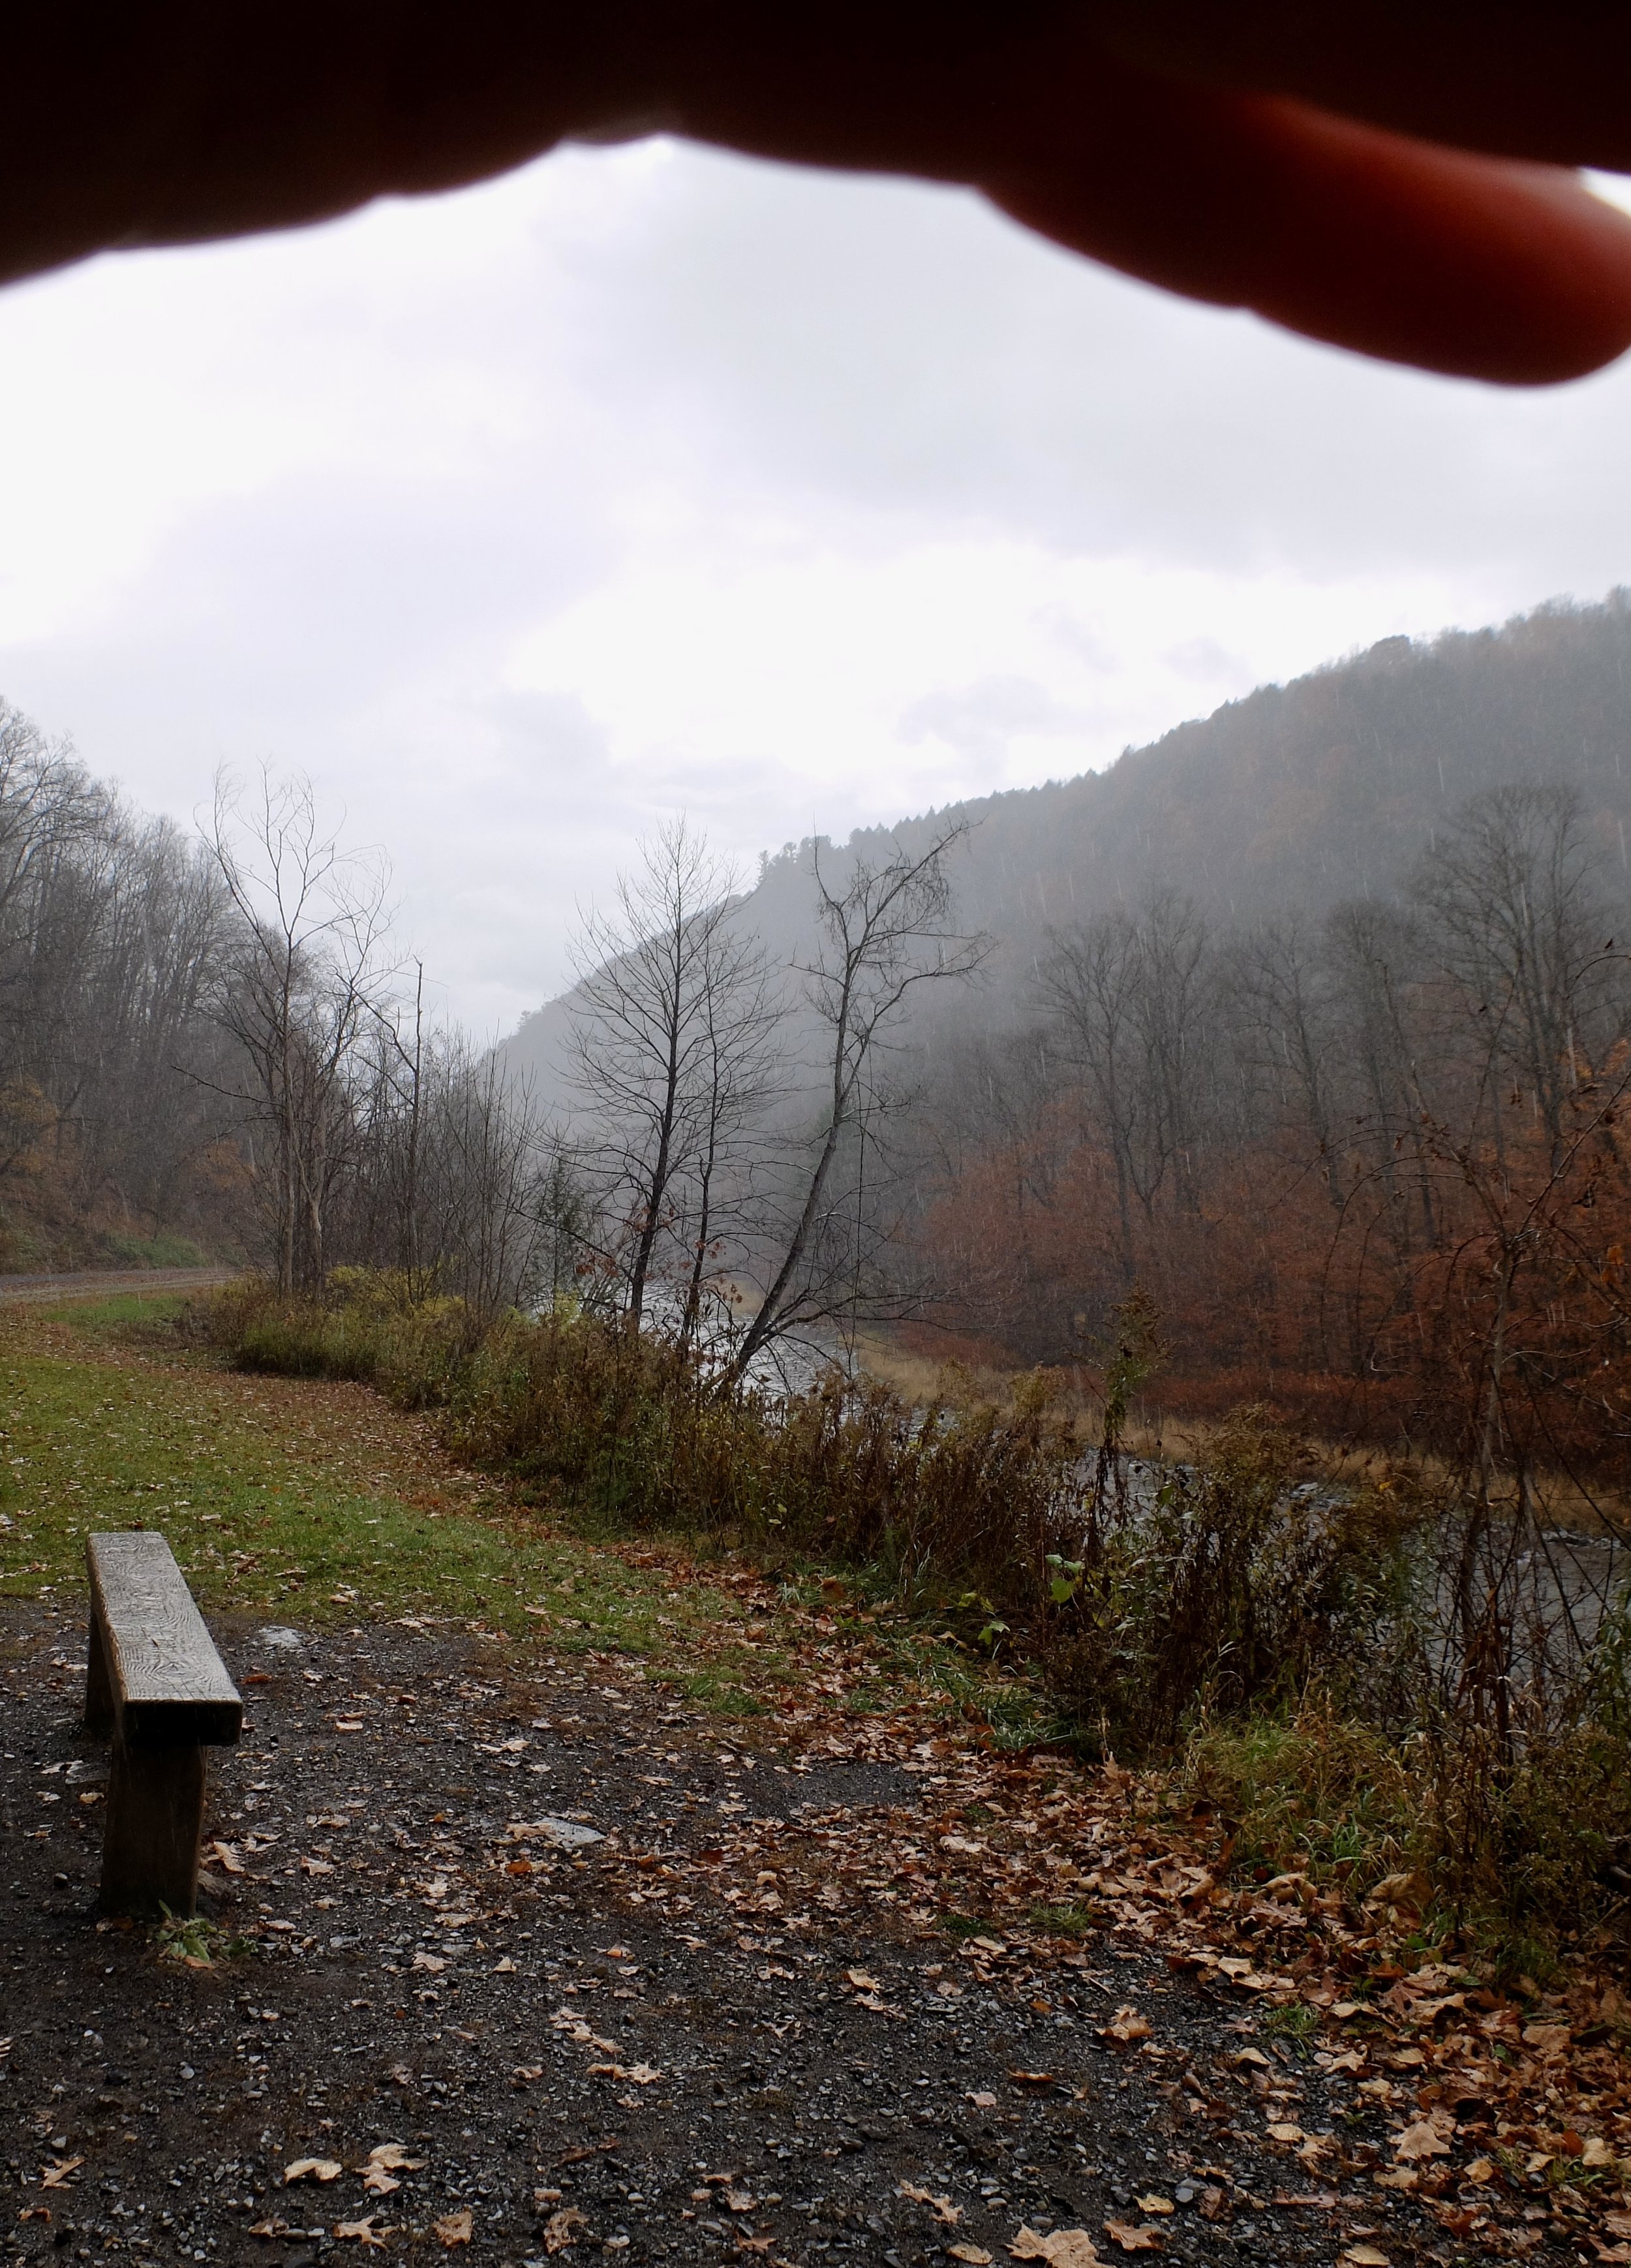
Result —
[{"label": "weathered wooden bench standing on dark gravel", "polygon": [[243,1701],[163,1535],[88,1535],[84,1721],[111,1733],[102,1905],[191,1914],[204,1833],[204,1749],[229,1749]]}]

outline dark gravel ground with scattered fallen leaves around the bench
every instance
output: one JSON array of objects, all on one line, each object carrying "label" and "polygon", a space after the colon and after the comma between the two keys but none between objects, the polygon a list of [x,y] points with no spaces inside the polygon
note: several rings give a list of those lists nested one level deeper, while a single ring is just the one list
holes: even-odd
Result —
[{"label": "dark gravel ground with scattered fallen leaves around the bench", "polygon": [[5,1617],[11,2257],[905,2268],[1091,2239],[1334,2263],[1386,2218],[1388,2261],[1452,2259],[1409,2200],[1311,2184],[1261,2123],[1384,2114],[1152,1950],[914,1932],[885,1903],[857,1928],[774,1869],[726,1882],[755,1823],[907,1842],[935,1774],[721,1730],[628,1662],[220,1631],[250,1728],[213,1776],[206,1905],[238,1944],[166,1960],[95,1916],[82,1626]]}]

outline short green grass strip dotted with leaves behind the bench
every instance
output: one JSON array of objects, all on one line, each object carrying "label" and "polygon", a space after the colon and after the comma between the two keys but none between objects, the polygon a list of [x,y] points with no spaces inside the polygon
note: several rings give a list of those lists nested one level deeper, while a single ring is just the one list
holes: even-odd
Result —
[{"label": "short green grass strip dotted with leaves behind the bench", "polygon": [[726,1712],[798,1678],[762,1624],[749,1635],[726,1581],[519,1515],[367,1388],[188,1354],[168,1331],[177,1309],[0,1306],[0,1597],[82,1594],[84,1538],[143,1526],[170,1540],[204,1610],[420,1615],[619,1651]]}]

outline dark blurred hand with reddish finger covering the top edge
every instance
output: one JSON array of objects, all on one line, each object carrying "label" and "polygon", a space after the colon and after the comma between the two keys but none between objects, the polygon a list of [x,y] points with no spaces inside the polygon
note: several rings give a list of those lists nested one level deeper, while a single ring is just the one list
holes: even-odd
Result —
[{"label": "dark blurred hand with reddish finger covering the top edge", "polygon": [[0,75],[0,279],[674,132],[1429,370],[1631,342],[1624,0],[16,0]]}]

